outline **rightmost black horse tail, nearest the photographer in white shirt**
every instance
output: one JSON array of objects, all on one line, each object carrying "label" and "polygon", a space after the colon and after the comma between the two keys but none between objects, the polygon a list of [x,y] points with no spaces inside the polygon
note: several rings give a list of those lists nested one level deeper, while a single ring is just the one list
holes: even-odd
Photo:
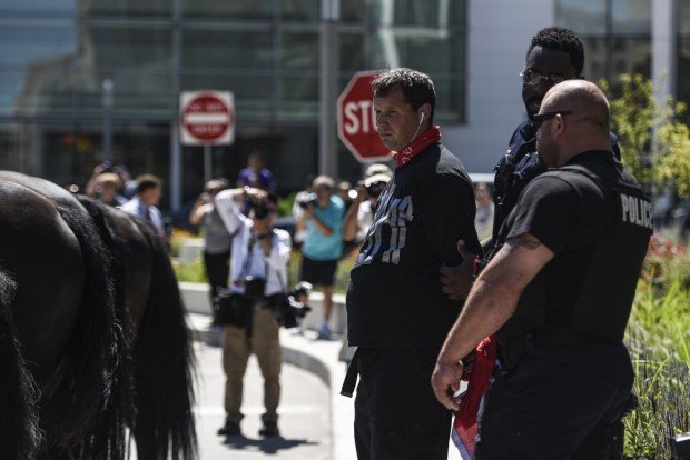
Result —
[{"label": "rightmost black horse tail, nearest the photographer in white shirt", "polygon": [[194,459],[195,358],[185,307],[165,242],[150,226],[137,223],[152,257],[149,298],[134,347],[137,448],[151,459]]}]

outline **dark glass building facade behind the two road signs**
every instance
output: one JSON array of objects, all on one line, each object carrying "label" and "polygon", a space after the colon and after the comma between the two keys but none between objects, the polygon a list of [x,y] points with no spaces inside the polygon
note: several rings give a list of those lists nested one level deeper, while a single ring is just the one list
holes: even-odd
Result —
[{"label": "dark glass building facade behind the two road signs", "polygon": [[[462,123],[465,21],[464,0],[342,0],[339,90],[356,71],[412,67],[444,94],[438,121]],[[259,149],[280,190],[298,189],[317,171],[322,23],[322,0],[3,0],[0,168],[83,184],[107,126],[115,162],[168,180],[179,92],[229,90],[236,141],[214,147],[213,176],[234,179]],[[338,173],[354,179],[338,146]],[[181,170],[188,201],[200,147],[181,149]]]}]

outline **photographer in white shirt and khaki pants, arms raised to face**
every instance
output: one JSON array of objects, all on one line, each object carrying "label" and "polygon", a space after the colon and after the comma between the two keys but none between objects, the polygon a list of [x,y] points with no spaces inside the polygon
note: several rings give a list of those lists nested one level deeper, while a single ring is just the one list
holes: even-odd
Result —
[{"label": "photographer in white shirt and khaki pants, arms raised to face", "polygon": [[[243,202],[249,216],[241,213]],[[216,209],[233,238],[229,299],[243,314],[223,321],[223,367],[227,377],[225,426],[220,436],[240,434],[243,379],[249,354],[254,352],[264,377],[262,414],[264,437],[279,436],[276,409],[280,398],[280,341],[277,297],[286,299],[287,263],[292,242],[285,230],[274,229],[277,217],[275,196],[245,187],[224,190],[215,198]],[[214,306],[216,308],[216,306]]]}]

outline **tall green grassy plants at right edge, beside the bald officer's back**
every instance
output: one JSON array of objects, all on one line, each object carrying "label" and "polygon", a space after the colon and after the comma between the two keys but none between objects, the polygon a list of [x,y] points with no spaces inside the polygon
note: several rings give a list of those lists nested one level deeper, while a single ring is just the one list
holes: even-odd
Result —
[{"label": "tall green grassy plants at right edge, beside the bald officer's back", "polygon": [[625,333],[639,398],[624,419],[630,458],[669,459],[669,438],[690,431],[689,266],[684,246],[654,237]]}]

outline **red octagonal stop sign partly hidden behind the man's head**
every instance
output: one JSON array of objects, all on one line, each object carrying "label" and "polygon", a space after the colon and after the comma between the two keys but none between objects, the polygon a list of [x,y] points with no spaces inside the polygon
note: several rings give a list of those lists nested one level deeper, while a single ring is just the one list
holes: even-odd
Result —
[{"label": "red octagonal stop sign partly hidden behind the man's head", "polygon": [[338,98],[338,138],[359,161],[384,161],[390,150],[381,143],[372,107],[372,81],[378,72],[357,72]]}]

